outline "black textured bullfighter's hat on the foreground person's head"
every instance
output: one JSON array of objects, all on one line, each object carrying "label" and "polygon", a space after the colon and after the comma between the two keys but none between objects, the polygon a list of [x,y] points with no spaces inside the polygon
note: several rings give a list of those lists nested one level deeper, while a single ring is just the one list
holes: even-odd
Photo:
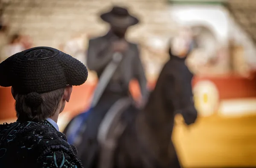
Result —
[{"label": "black textured bullfighter's hat on the foreground person's head", "polygon": [[0,63],[0,86],[19,94],[47,93],[66,85],[81,85],[88,71],[83,63],[51,47],[35,47]]}]

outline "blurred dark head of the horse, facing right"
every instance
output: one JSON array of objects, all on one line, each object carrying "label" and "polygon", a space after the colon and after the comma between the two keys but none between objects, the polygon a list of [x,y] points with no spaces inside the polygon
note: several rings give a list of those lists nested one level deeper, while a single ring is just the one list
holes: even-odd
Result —
[{"label": "blurred dark head of the horse, facing right", "polygon": [[[166,94],[169,108],[174,109],[175,114],[182,114],[187,125],[195,122],[197,111],[194,106],[192,94],[192,73],[183,64],[176,65],[170,60],[170,65],[166,66],[166,77],[164,94]],[[175,66],[175,67],[174,67]],[[164,86],[164,87],[166,87]]]}]

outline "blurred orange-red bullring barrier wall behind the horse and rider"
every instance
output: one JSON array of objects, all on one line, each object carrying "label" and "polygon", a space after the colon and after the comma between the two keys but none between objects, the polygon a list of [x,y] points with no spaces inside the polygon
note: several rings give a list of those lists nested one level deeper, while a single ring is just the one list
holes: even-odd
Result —
[{"label": "blurred orange-red bullring barrier wall behind the horse and rider", "polygon": [[[202,80],[210,80],[217,86],[220,94],[220,99],[233,99],[244,97],[256,97],[256,75],[247,79],[236,76],[225,77],[198,77],[195,76],[193,85]],[[155,82],[148,83],[148,88],[154,88]],[[70,102],[67,103],[64,111],[72,112],[71,116],[85,110],[90,104],[90,97],[96,83],[84,83],[80,86],[73,87]],[[135,99],[140,97],[140,88],[137,81],[130,83],[130,91]],[[5,120],[15,117],[15,100],[11,94],[11,88],[0,87],[0,120]]]}]

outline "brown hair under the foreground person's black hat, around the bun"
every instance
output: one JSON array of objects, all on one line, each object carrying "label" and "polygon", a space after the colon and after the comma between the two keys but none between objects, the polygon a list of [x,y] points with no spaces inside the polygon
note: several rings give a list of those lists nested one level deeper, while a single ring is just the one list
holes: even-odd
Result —
[{"label": "brown hair under the foreground person's black hat, around the bun", "polygon": [[[15,93],[15,89],[14,89]],[[64,88],[40,94],[42,103],[36,109],[32,109],[26,102],[25,94],[15,93],[15,109],[20,121],[42,121],[55,114],[56,109],[64,94]]]}]

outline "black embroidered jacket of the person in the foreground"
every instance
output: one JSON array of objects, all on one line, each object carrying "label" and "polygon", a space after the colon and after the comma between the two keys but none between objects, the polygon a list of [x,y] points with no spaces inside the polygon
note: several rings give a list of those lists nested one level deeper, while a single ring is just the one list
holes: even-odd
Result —
[{"label": "black embroidered jacket of the person in the foreground", "polygon": [[82,168],[76,155],[47,121],[0,125],[0,168]]}]

